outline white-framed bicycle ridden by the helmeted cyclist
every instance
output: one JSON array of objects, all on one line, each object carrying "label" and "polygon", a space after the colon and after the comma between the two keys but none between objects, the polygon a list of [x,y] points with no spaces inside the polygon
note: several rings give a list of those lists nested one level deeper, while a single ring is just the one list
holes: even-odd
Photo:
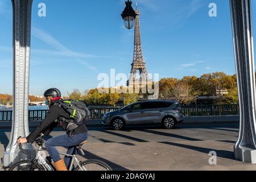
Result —
[{"label": "white-framed bicycle ridden by the helmeted cyclist", "polygon": [[[101,160],[89,159],[81,162],[76,158],[76,155],[79,151],[84,156],[84,151],[82,151],[81,147],[86,142],[87,141],[75,146],[75,150],[72,155],[59,152],[60,155],[72,158],[68,167],[68,171],[112,171],[112,168]],[[46,151],[46,148],[43,147],[44,140],[38,138],[36,139],[36,144],[38,144],[39,148],[38,150],[35,149],[35,158],[32,160],[20,160],[19,162],[15,163],[13,167],[9,169],[9,171],[56,171],[54,165],[52,164],[51,157],[47,156],[46,159],[44,159],[41,155],[42,151]],[[24,154],[27,154],[27,152],[23,150],[22,144],[19,144],[19,148],[20,151],[22,151]],[[74,161],[77,164],[76,167],[73,166]]]}]

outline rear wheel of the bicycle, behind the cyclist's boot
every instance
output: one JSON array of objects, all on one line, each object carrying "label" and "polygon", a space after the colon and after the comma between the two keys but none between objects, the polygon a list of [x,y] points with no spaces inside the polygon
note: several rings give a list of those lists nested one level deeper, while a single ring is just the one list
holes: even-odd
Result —
[{"label": "rear wheel of the bicycle, behind the cyclist's boot", "polygon": [[80,166],[75,168],[75,171],[112,171],[112,168],[105,162],[97,159],[90,159],[80,163]]}]

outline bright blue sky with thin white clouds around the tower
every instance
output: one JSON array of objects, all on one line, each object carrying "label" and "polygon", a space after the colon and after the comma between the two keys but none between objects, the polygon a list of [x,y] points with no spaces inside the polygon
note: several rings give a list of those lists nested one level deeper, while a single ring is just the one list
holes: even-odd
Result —
[{"label": "bright blue sky with thin white clouds around the tower", "polygon": [[[47,16],[38,16],[45,3]],[[121,18],[125,0],[34,0],[30,93],[50,87],[64,95],[96,88],[100,73],[130,73],[134,29]],[[160,78],[236,73],[229,0],[137,0],[144,59]],[[217,17],[208,15],[217,4]],[[253,1],[253,16],[255,4]],[[12,11],[0,0],[0,93],[13,92]],[[255,25],[254,19],[254,25]]]}]

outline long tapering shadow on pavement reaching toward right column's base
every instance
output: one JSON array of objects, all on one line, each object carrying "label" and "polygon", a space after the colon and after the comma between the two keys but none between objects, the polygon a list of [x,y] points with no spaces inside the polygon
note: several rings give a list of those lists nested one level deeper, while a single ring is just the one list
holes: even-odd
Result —
[{"label": "long tapering shadow on pavement reaching toward right column's base", "polygon": [[220,158],[234,159],[234,152],[230,152],[230,151],[216,150],[216,149],[213,149],[213,148],[189,146],[187,144],[180,144],[180,143],[173,143],[173,142],[159,142],[159,143],[169,144],[171,146],[177,146],[177,147],[182,147],[182,148],[188,148],[190,150],[203,152],[205,154],[209,154],[210,151],[216,151],[217,156],[220,157]]}]

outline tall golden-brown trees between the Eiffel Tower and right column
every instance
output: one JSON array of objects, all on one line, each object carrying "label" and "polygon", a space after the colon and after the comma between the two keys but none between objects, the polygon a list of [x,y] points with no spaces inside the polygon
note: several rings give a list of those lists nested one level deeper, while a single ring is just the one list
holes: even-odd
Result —
[{"label": "tall golden-brown trees between the Eiffel Tower and right column", "polygon": [[[220,90],[226,90],[228,94],[221,95]],[[204,74],[200,78],[162,78],[159,81],[159,94],[160,98],[177,100],[183,104],[195,102],[196,96],[218,96],[218,104],[237,104],[237,77],[216,72]]]}]

